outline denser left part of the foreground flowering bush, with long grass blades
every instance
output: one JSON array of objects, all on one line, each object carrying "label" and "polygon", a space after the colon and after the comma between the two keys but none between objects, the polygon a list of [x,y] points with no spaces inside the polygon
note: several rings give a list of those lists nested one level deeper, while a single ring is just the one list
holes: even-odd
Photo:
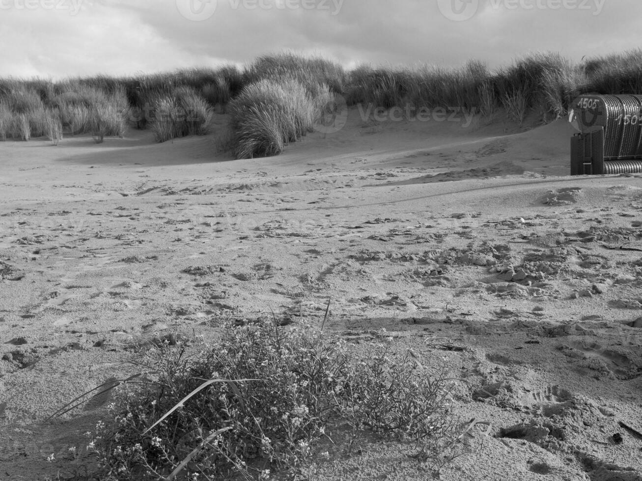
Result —
[{"label": "denser left part of the foreground flowering bush, with long grass blades", "polygon": [[[187,355],[185,346],[162,346],[150,353],[158,381],[122,391],[115,423],[98,432],[101,466],[111,479],[167,477],[212,433],[218,434],[182,479],[243,472],[257,459],[297,464],[321,434],[329,392],[343,378],[346,359],[340,345],[324,346],[307,330],[284,332],[270,321],[228,326],[220,342],[197,355]],[[171,411],[204,380],[211,382]]]}]

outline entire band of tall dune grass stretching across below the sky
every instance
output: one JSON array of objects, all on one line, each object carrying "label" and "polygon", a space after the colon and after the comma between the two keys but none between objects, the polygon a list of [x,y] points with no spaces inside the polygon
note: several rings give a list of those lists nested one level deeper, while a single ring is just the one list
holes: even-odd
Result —
[{"label": "entire band of tall dune grass stretching across below the sky", "polygon": [[[291,95],[284,85],[292,87]],[[541,122],[562,117],[573,99],[588,92],[642,94],[642,49],[580,63],[559,53],[531,53],[494,71],[479,61],[447,69],[361,65],[346,71],[318,56],[280,53],[259,56],[242,69],[223,65],[58,82],[0,79],[0,139],[51,137],[49,119],[57,115],[65,133],[91,133],[98,142],[123,135],[128,124],[152,128],[163,141],[204,133],[203,120],[216,109],[232,115],[235,155],[254,157],[281,153],[333,105],[458,108],[487,121],[503,112],[521,124],[532,113]],[[194,119],[175,120],[185,112]]]}]

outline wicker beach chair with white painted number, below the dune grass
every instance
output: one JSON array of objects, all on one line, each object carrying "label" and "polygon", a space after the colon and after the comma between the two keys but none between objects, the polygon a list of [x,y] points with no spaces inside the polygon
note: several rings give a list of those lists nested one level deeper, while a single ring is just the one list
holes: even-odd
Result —
[{"label": "wicker beach chair with white painted number, below the dune grass", "polygon": [[642,172],[642,96],[581,96],[569,121],[571,175]]}]

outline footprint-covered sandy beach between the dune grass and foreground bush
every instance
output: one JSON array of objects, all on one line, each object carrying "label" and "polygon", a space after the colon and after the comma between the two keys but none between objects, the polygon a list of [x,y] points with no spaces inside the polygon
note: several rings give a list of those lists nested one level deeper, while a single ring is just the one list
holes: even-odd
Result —
[{"label": "footprint-covered sandy beach between the dune grass and foreground bush", "polygon": [[[351,111],[258,160],[215,135],[0,144],[0,479],[83,466],[67,449],[108,398],[43,419],[134,372],[141,342],[270,308],[320,321],[327,298],[351,342],[447,356],[456,412],[491,423],[442,479],[642,479],[618,424],[642,430],[642,176],[566,176],[566,122],[516,132]],[[310,476],[427,478],[407,451],[365,443]]]}]

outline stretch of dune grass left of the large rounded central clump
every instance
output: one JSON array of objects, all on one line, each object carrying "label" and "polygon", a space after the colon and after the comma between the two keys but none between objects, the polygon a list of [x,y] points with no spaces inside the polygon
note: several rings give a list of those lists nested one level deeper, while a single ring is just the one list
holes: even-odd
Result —
[{"label": "stretch of dune grass left of the large rounded central clump", "polygon": [[[225,108],[243,85],[242,72],[233,65],[57,82],[0,79],[0,139],[49,137],[52,116],[58,117],[64,132],[70,135],[89,133],[96,142],[122,137],[128,124],[138,128],[157,124],[156,106],[166,105],[161,100],[177,92],[177,108],[182,111],[179,116],[184,119],[171,133],[177,137],[194,135],[204,132],[204,118],[211,107]],[[160,117],[164,115],[160,112]]]}]

